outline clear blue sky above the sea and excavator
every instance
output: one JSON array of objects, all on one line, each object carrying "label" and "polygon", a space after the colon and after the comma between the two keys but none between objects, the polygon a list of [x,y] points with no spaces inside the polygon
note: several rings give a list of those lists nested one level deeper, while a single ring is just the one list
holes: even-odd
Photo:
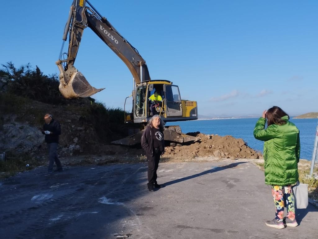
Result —
[{"label": "clear blue sky above the sea and excavator", "polygon": [[[90,3],[137,48],[151,78],[177,84],[182,99],[197,101],[199,114],[261,115],[273,105],[291,115],[318,111],[318,1]],[[30,62],[58,73],[71,4],[4,1],[0,63]],[[123,108],[130,71],[89,28],[74,65],[91,85],[106,88],[93,98]]]}]

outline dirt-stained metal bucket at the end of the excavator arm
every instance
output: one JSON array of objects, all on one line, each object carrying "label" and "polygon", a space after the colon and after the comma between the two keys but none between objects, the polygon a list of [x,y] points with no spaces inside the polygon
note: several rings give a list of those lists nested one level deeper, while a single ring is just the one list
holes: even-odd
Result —
[{"label": "dirt-stained metal bucket at the end of the excavator arm", "polygon": [[67,99],[89,97],[104,89],[105,88],[96,89],[95,87],[91,86],[86,80],[85,76],[79,71],[76,71],[72,74],[67,85],[59,85],[59,91]]}]

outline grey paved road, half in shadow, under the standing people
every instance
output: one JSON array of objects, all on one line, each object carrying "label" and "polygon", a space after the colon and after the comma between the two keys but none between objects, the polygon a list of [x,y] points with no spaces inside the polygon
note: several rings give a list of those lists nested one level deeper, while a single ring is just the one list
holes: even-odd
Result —
[{"label": "grey paved road, half in shadow, under the standing people", "polygon": [[269,228],[270,187],[248,162],[161,163],[147,190],[146,164],[46,168],[0,182],[1,238],[318,237],[318,209],[296,211],[296,228]]}]

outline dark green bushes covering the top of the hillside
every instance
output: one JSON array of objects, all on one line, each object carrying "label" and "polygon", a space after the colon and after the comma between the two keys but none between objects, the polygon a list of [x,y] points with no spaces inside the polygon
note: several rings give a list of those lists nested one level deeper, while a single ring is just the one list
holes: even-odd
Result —
[{"label": "dark green bushes covering the top of the hillside", "polygon": [[127,134],[121,108],[109,108],[90,97],[65,99],[59,92],[58,76],[47,76],[38,66],[32,69],[26,64],[16,68],[8,62],[2,64],[0,77],[8,81],[5,93],[0,94],[2,114],[16,114],[18,121],[35,126],[42,126],[43,114],[47,112],[59,115],[59,121],[77,114],[81,116],[79,123],[95,127],[101,141],[109,141],[114,133]]}]

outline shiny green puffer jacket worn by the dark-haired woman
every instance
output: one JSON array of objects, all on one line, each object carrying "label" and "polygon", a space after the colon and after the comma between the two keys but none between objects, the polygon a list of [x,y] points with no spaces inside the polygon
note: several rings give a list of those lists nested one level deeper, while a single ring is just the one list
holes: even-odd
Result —
[{"label": "shiny green puffer jacket worn by the dark-haired woman", "polygon": [[259,118],[254,128],[255,139],[265,141],[265,184],[269,185],[293,185],[298,181],[299,130],[287,115],[281,119],[286,124],[272,124],[265,129],[266,119]]}]

